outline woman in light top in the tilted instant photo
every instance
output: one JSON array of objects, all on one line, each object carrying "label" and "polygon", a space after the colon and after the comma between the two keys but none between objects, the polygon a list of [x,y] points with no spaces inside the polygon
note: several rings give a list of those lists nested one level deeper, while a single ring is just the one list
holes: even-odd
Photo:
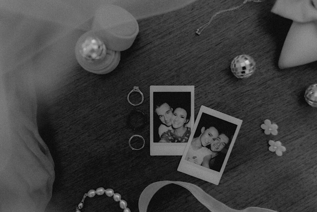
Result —
[{"label": "woman in light top in the tilted instant photo", "polygon": [[206,146],[217,140],[219,133],[218,130],[212,126],[208,128],[202,127],[200,132],[201,134],[198,137],[192,139],[185,159],[209,168],[210,156],[213,153]]}]

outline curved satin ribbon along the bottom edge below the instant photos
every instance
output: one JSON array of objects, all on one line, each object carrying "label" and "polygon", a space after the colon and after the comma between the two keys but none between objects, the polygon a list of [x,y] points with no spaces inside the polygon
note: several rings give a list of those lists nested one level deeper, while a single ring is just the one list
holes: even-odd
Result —
[{"label": "curved satin ribbon along the bottom edge below the instant photos", "polygon": [[222,202],[216,200],[200,187],[182,181],[158,181],[148,185],[140,195],[139,198],[139,211],[146,212],[147,207],[152,199],[153,195],[162,187],[174,183],[176,185],[182,186],[189,190],[196,199],[201,202],[207,209],[212,212],[238,212],[238,211],[245,211],[245,212],[276,212],[274,210],[265,209],[265,208],[258,208],[258,207],[249,207],[243,210],[236,210],[228,207],[227,205],[223,204]]}]

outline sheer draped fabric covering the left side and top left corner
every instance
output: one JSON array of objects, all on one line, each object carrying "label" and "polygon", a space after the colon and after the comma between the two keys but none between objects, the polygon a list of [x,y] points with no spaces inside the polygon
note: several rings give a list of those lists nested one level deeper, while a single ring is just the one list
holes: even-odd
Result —
[{"label": "sheer draped fabric covering the left side and top left corner", "polygon": [[54,161],[38,133],[37,101],[77,64],[74,46],[96,8],[113,3],[140,19],[193,1],[0,1],[0,211],[44,211],[51,198]]}]

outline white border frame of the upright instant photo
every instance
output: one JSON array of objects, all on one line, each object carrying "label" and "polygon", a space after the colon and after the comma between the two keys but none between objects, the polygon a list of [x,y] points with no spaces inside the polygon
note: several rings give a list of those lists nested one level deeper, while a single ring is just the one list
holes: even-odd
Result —
[{"label": "white border frame of the upright instant photo", "polygon": [[[153,92],[191,92],[191,130],[194,127],[194,85],[151,85],[150,86],[150,155],[183,155],[186,143],[158,143],[153,138]],[[192,133],[191,133],[192,134]]]}]

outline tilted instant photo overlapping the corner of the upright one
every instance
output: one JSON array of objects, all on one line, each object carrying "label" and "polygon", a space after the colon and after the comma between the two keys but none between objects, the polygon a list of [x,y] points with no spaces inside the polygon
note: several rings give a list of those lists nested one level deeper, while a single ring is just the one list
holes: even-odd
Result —
[{"label": "tilted instant photo overlapping the corner of the upright one", "polygon": [[201,106],[177,170],[218,185],[242,120]]}]

